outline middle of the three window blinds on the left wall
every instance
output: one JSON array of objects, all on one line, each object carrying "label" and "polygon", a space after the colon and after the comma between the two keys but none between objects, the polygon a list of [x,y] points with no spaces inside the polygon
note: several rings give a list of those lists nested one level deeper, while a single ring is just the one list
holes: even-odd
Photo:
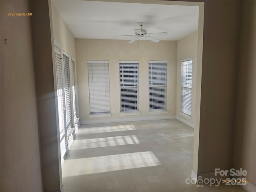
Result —
[{"label": "middle of the three window blinds on the left wall", "polygon": [[70,92],[70,70],[69,58],[64,56],[64,73],[65,73],[65,99],[66,99],[66,126],[67,129],[72,127],[72,109],[71,109],[71,92]]}]

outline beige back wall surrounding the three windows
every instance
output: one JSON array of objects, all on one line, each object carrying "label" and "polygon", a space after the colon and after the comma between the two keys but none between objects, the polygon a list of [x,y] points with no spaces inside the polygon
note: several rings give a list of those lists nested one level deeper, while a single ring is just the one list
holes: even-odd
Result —
[{"label": "beige back wall surrounding the three windows", "polygon": [[[133,116],[120,116],[119,91],[119,60],[139,60],[139,110],[140,116],[154,116],[148,114],[148,60],[168,60],[167,83],[167,110],[168,114],[176,115],[176,42],[140,41],[128,44],[128,40],[88,40],[76,39],[76,60],[78,78],[78,99],[80,103],[81,120],[89,118],[89,90],[87,60],[108,60],[110,71],[110,109],[115,110],[109,118],[122,118]],[[138,117],[138,116],[137,116]],[[100,118],[102,119],[102,118]]]}]

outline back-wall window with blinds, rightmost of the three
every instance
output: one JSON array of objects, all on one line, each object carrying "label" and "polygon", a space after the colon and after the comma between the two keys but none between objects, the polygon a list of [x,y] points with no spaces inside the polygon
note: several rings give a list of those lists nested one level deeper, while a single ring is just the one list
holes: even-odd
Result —
[{"label": "back-wall window with blinds, rightmost of the three", "polygon": [[149,110],[166,110],[167,61],[149,61]]}]

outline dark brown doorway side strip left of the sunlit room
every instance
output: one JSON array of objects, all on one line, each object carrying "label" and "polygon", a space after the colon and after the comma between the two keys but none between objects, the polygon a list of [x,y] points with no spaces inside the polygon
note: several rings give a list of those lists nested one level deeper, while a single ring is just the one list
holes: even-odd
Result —
[{"label": "dark brown doorway side strip left of the sunlit room", "polygon": [[[62,188],[51,2],[30,1],[44,191]],[[44,37],[44,38],[42,38]],[[44,54],[42,54],[44,53]]]}]

